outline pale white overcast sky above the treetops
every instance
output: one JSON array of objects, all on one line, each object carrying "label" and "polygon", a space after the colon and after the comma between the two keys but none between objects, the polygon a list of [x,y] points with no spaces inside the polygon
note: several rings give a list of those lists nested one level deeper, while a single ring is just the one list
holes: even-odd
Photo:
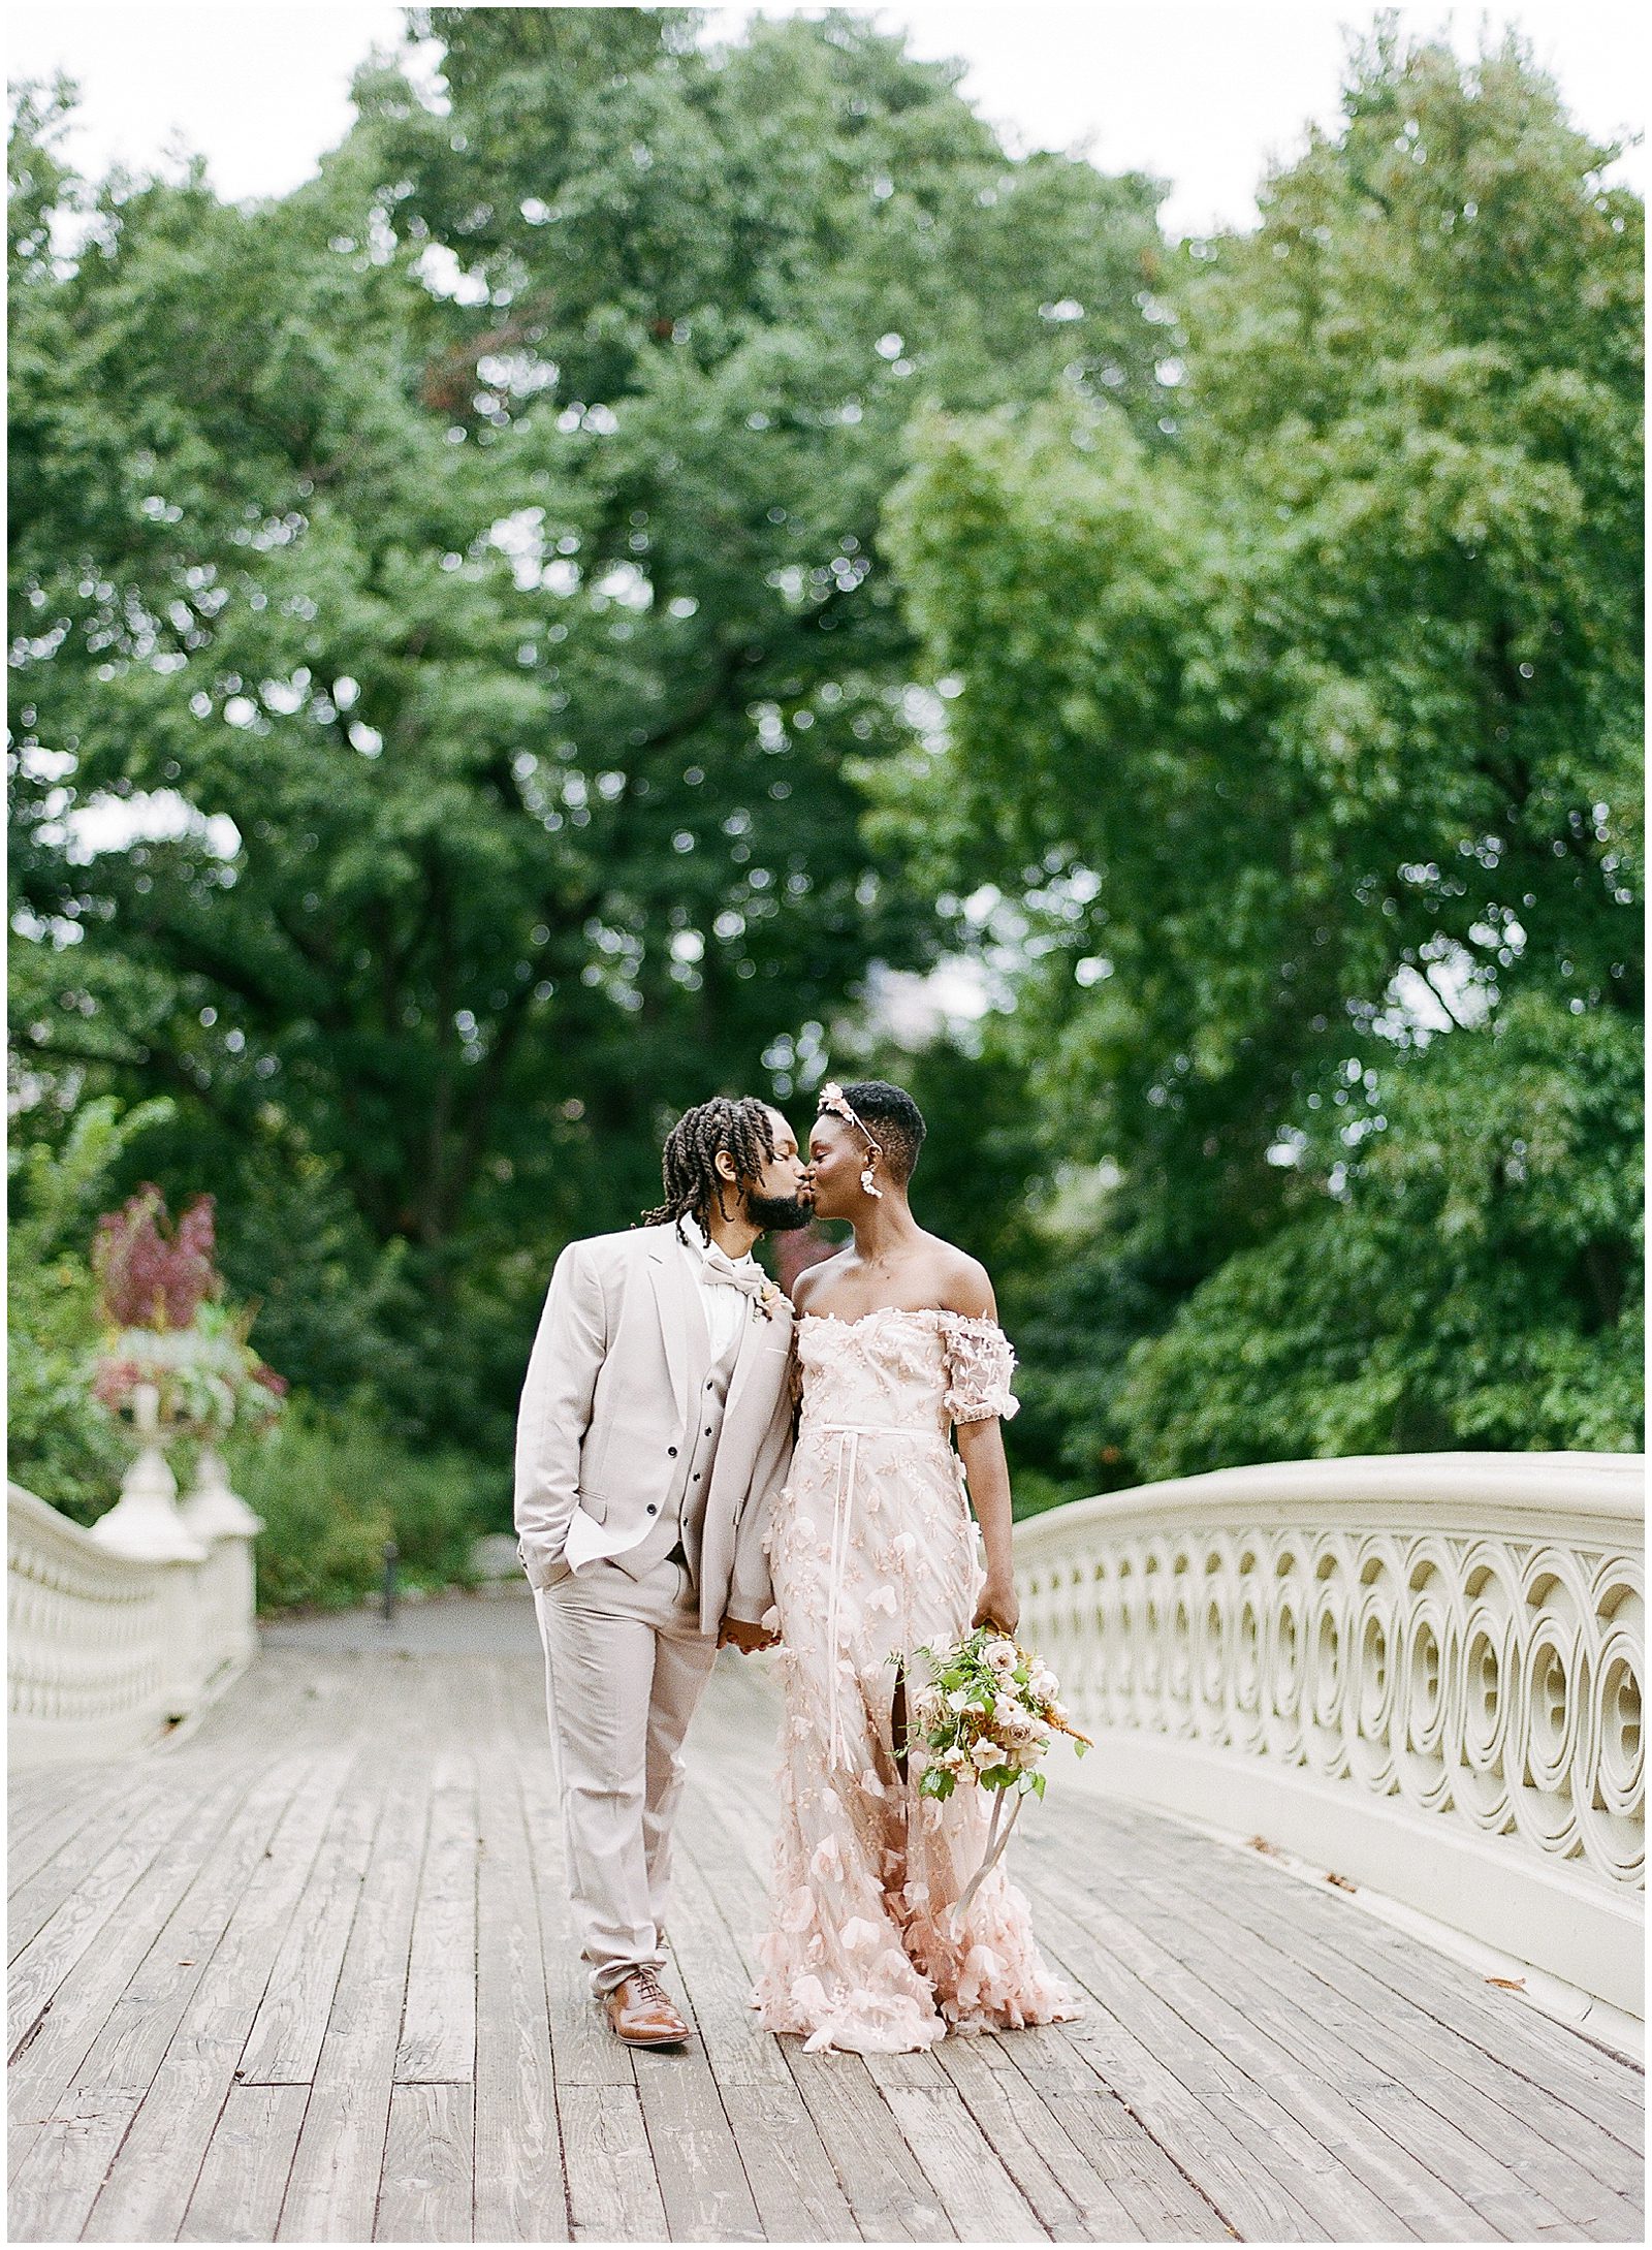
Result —
[{"label": "pale white overcast sky above the treetops", "polygon": [[[707,9],[738,36],[752,7]],[[767,7],[765,14],[815,14]],[[1015,148],[1089,146],[1107,171],[1173,182],[1166,225],[1249,225],[1269,158],[1290,158],[1310,117],[1337,112],[1348,0],[907,0],[867,9],[907,27],[914,52],[963,58],[966,94]],[[1481,22],[1515,22],[1589,133],[1643,130],[1652,9],[1623,0],[1400,7],[1409,32],[1449,29],[1472,52]],[[380,0],[7,0],[7,76],[65,70],[83,92],[70,155],[90,173],[207,158],[221,196],[275,196],[304,180],[349,128],[351,70],[398,45],[403,11]],[[1645,148],[1618,176],[1645,194]]]}]

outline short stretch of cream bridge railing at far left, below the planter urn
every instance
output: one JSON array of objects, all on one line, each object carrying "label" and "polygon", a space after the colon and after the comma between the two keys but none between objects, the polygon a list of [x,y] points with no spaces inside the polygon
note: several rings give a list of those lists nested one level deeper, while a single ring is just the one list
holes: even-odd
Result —
[{"label": "short stretch of cream bridge railing at far left, below the planter urn", "polygon": [[182,1510],[155,1498],[135,1526],[110,1510],[92,1532],[7,1485],[14,1762],[119,1757],[209,1703],[252,1656],[259,1519],[216,1456],[209,1467]]}]

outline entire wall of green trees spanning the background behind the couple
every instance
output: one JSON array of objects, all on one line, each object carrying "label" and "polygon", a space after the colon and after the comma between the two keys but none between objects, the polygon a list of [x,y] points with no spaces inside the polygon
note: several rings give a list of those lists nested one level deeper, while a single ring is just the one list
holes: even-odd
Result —
[{"label": "entire wall of green trees spanning the background behind the couple", "polygon": [[263,1357],[502,1458],[556,1249],[853,1048],[1047,1492],[1632,1444],[1643,214],[1530,58],[1170,245],[853,14],[414,25],[270,202],[16,108],[25,1141],[151,1105]]}]

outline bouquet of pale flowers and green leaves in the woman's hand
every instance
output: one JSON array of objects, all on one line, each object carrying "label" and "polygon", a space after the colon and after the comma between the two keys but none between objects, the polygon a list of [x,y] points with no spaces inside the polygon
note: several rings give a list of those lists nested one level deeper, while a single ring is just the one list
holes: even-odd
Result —
[{"label": "bouquet of pale flowers and green leaves in the woman's hand", "polygon": [[1089,1748],[1058,1701],[1060,1681],[1049,1665],[993,1624],[957,1647],[918,1654],[927,1658],[930,1685],[907,1750],[923,1757],[921,1796],[950,1798],[959,1782],[977,1782],[1042,1798],[1038,1766],[1051,1735],[1071,1735],[1080,1757]]}]

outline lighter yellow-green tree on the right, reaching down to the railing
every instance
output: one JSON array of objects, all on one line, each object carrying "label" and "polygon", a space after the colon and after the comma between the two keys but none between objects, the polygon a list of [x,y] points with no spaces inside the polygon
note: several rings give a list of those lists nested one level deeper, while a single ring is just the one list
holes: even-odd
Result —
[{"label": "lighter yellow-green tree on the right, reaching down to the railing", "polygon": [[1512,40],[1463,68],[1384,29],[1258,232],[1184,245],[1168,443],[1071,400],[934,418],[891,502],[961,693],[876,778],[882,835],[1020,963],[995,1040],[1049,1179],[1116,1170],[1035,1323],[1092,1478],[1632,1442],[1641,207],[1609,153]]}]

